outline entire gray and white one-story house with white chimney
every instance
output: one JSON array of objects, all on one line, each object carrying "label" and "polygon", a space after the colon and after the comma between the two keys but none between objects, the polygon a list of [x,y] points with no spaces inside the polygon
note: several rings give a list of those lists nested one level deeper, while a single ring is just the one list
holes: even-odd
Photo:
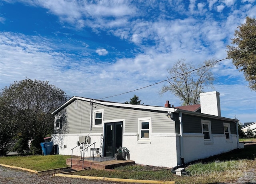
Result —
[{"label": "entire gray and white one-story house with white chimney", "polygon": [[[174,167],[239,148],[238,120],[220,116],[217,91],[200,94],[201,105],[131,105],[72,97],[52,114],[58,154],[81,156],[94,142],[100,156],[126,147],[138,164]],[[202,113],[200,113],[202,112]],[[85,156],[91,156],[90,149]]]}]

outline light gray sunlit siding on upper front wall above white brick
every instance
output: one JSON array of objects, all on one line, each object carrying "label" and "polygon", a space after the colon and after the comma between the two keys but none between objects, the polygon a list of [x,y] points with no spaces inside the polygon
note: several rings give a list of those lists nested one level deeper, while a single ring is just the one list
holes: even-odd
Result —
[{"label": "light gray sunlit siding on upper front wall above white brick", "polygon": [[[75,109],[75,101],[78,102]],[[90,133],[90,102],[75,100],[61,112],[65,114],[65,133]],[[175,133],[174,121],[166,117],[166,112],[139,110],[93,104],[93,111],[104,110],[103,121],[125,119],[125,132],[138,132],[138,118],[152,117],[152,133]],[[60,113],[58,113],[60,114]],[[92,113],[93,116],[93,113]],[[92,123],[93,124],[93,123]],[[64,133],[64,130],[62,130]],[[103,126],[93,127],[91,133],[103,133]]]}]

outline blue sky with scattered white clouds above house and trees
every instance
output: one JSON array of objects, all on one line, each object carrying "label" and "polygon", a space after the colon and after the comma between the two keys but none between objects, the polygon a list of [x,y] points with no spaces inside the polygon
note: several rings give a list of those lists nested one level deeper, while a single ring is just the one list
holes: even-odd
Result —
[{"label": "blue sky with scattered white clouds above house and trees", "polygon": [[[226,58],[226,45],[254,0],[205,1],[11,1],[1,0],[0,87],[47,80],[70,96],[100,99],[166,79],[178,59],[195,65]],[[213,69],[223,117],[256,121],[256,92],[232,60]],[[181,102],[158,94],[160,83],[104,100],[144,105]]]}]

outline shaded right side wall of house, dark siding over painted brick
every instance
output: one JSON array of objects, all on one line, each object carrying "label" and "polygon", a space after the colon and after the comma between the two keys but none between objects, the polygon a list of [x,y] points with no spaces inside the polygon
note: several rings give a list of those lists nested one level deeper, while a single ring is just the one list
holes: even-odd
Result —
[{"label": "shaded right side wall of house, dark siding over painted brick", "polygon": [[[192,115],[182,115],[184,162],[207,158],[238,148],[236,123]],[[204,140],[202,120],[210,122],[210,140]],[[224,134],[224,123],[230,125],[230,139]]]}]

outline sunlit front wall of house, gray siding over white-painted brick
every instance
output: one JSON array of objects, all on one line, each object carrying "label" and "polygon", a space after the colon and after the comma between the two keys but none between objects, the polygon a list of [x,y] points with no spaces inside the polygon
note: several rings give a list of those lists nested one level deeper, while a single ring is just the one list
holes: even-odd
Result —
[{"label": "sunlit front wall of house, gray siding over white-painted brick", "polygon": [[[174,121],[166,116],[166,111],[140,110],[93,103],[92,116],[94,111],[103,110],[103,118],[100,126],[94,126],[92,122],[90,132],[90,108],[90,102],[76,99],[57,113],[56,116],[65,114],[65,126],[63,127],[66,127],[56,130],[56,133],[52,135],[52,141],[58,145],[59,154],[70,155],[79,137],[86,135],[90,136],[90,142],[96,142],[95,147],[99,148],[100,138],[104,134],[104,123],[123,121],[122,146],[129,150],[128,159],[138,164],[166,167],[173,167],[180,163],[179,150],[177,152],[180,137],[175,133]],[[152,122],[150,140],[146,141],[138,137],[139,119],[144,118],[150,118]],[[81,146],[85,148],[88,145]],[[80,146],[73,149],[73,155],[81,156]],[[84,156],[90,155],[89,149]]]}]

